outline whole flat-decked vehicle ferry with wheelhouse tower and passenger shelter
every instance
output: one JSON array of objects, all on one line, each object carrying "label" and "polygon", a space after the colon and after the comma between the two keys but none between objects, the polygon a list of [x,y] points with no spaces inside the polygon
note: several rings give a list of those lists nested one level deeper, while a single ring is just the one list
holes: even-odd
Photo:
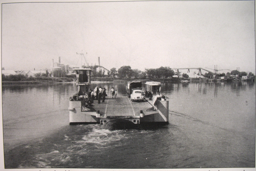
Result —
[{"label": "whole flat-decked vehicle ferry with wheelhouse tower and passenger shelter", "polygon": [[93,103],[89,96],[91,69],[76,68],[74,70],[78,93],[69,98],[70,125],[105,125],[112,122],[131,125],[169,124],[169,100],[161,94],[160,82],[147,81],[145,83],[143,102],[132,102],[127,96],[117,98],[109,96],[104,103],[98,104],[97,100]]}]

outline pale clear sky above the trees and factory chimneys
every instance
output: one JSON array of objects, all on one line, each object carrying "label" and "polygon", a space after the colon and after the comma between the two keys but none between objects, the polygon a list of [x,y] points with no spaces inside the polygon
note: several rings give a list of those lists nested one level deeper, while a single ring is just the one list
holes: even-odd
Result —
[{"label": "pale clear sky above the trees and factory chimneys", "polygon": [[215,65],[255,74],[254,1],[6,3],[1,36],[5,70],[49,70],[59,56],[81,66],[83,53],[109,70]]}]

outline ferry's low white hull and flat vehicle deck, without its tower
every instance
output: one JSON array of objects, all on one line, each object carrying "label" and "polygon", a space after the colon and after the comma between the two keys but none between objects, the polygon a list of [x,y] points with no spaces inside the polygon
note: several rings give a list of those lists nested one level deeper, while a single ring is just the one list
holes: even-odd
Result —
[{"label": "ferry's low white hull and flat vehicle deck, without its tower", "polygon": [[69,102],[70,125],[167,125],[169,124],[169,101],[155,100],[131,102],[127,97],[107,99],[105,103],[94,104],[93,111],[82,112],[80,101]]}]

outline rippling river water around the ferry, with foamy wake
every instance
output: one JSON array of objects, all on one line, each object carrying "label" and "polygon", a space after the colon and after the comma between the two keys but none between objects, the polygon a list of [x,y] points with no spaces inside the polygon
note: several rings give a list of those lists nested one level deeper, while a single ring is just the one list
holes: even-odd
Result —
[{"label": "rippling river water around the ferry, with foamy wake", "polygon": [[[126,83],[93,83],[126,94]],[[162,83],[169,125],[69,125],[72,83],[3,85],[5,168],[255,167],[255,83]]]}]

